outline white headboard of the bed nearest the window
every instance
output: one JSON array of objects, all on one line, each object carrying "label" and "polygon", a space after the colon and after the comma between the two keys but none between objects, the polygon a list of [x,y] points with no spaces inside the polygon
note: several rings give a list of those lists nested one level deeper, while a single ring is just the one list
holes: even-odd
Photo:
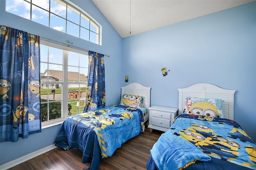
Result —
[{"label": "white headboard of the bed nearest the window", "polygon": [[145,87],[140,83],[130,83],[127,86],[122,86],[121,89],[122,89],[121,97],[124,94],[143,96],[144,97],[143,107],[146,107],[147,109],[150,107],[151,87]]}]

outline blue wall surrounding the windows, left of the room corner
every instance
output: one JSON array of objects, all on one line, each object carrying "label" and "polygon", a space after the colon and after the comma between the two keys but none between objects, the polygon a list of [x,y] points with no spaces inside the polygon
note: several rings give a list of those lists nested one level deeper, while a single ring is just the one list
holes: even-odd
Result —
[{"label": "blue wall surrounding the windows, left of the room corner", "polygon": [[[90,16],[102,25],[102,45],[96,45],[85,40],[69,36],[46,26],[31,22],[19,16],[5,12],[5,1],[0,0],[0,24],[24,30],[44,38],[66,42],[70,40],[72,45],[91,51],[96,51],[110,57],[105,57],[106,77],[106,105],[114,105],[120,102],[122,83],[122,38],[101,14],[96,6],[89,0],[71,0],[74,4],[84,9]],[[113,83],[114,82],[114,83]],[[119,91],[116,89],[120,89]],[[41,133],[31,134],[27,139],[19,138],[18,142],[0,143],[0,165],[20,158],[53,144],[60,125],[42,129]],[[13,152],[14,151],[14,152]]]}]

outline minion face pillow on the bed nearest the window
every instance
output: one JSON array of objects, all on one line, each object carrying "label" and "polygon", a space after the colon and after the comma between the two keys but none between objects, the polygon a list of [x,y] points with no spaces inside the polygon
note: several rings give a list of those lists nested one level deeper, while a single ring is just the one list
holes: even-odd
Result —
[{"label": "minion face pillow on the bed nearest the window", "polygon": [[136,96],[136,95],[123,95],[120,101],[120,105],[128,106],[128,107],[143,107],[143,96]]}]

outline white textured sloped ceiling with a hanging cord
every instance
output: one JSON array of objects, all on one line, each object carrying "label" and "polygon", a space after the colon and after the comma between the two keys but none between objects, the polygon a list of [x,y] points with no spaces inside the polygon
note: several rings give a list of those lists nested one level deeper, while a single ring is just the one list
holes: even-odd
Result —
[{"label": "white textured sloped ceiling with a hanging cord", "polygon": [[255,0],[92,0],[122,38],[252,1]]}]

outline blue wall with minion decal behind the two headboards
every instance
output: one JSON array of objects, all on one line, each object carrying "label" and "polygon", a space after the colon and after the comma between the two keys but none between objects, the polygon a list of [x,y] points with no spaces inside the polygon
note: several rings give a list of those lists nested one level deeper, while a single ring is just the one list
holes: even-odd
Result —
[{"label": "blue wall with minion decal behind the two headboards", "polygon": [[177,89],[195,83],[236,90],[234,121],[256,141],[256,2],[124,38],[122,47],[123,79],[152,87],[151,106],[178,108]]}]

